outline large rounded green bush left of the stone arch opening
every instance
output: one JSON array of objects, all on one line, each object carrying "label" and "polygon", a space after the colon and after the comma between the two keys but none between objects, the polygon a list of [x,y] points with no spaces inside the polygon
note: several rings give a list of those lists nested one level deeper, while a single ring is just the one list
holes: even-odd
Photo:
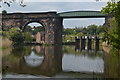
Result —
[{"label": "large rounded green bush left of the stone arch opening", "polygon": [[19,28],[11,28],[8,32],[8,38],[13,41],[14,45],[20,45],[24,42],[24,36]]}]

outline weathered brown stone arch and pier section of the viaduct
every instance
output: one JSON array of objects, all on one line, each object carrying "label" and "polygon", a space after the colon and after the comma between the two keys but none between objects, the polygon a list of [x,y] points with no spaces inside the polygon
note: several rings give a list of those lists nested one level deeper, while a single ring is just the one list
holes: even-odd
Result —
[{"label": "weathered brown stone arch and pier section of the viaduct", "polygon": [[38,22],[45,27],[45,43],[62,44],[62,19],[56,12],[10,13],[2,15],[2,29],[19,27],[24,31],[27,24]]}]

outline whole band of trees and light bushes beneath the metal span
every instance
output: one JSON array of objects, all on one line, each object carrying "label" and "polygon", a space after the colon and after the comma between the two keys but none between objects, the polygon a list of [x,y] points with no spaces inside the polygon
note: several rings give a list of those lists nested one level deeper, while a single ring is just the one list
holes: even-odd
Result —
[{"label": "whole band of trees and light bushes beneath the metal span", "polygon": [[74,41],[75,37],[80,36],[99,36],[103,37],[104,26],[89,25],[87,27],[66,28],[63,30],[63,41]]}]

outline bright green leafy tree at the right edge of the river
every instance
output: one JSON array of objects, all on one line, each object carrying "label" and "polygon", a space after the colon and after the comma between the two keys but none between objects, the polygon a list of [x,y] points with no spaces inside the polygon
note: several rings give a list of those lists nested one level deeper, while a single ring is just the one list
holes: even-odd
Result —
[{"label": "bright green leafy tree at the right edge of the river", "polygon": [[120,2],[108,2],[108,5],[103,8],[102,12],[109,15],[114,14],[114,18],[109,19],[110,28],[105,33],[105,41],[108,41],[108,44],[114,48],[120,49]]}]

